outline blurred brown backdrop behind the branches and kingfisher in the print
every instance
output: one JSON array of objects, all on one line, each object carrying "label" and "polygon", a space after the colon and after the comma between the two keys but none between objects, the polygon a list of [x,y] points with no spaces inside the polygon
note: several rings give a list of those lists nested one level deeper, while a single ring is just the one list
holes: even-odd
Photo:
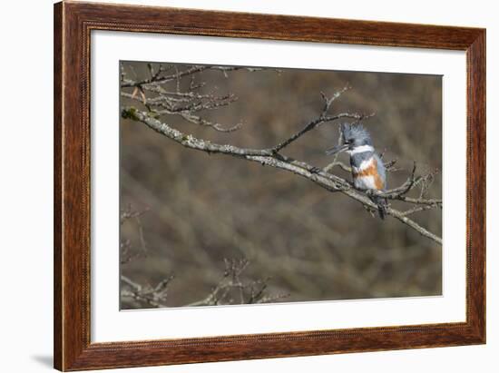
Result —
[{"label": "blurred brown backdrop behind the branches and kingfisher in the print", "polygon": [[[190,67],[177,64],[180,71]],[[147,63],[122,62],[121,74],[142,80],[150,70]],[[270,147],[318,117],[320,92],[331,96],[349,84],[330,113],[376,113],[363,123],[384,160],[397,160],[399,170],[388,173],[388,188],[406,181],[414,161],[417,173],[442,170],[441,76],[269,68],[207,70],[196,74],[196,81],[205,83],[200,93],[237,97],[202,113],[204,118],[227,127],[243,125],[220,133],[176,115],[161,116],[183,133],[241,147]],[[180,88],[189,83],[180,82]],[[169,84],[176,89],[176,81]],[[126,97],[121,104],[146,110]],[[338,141],[338,124],[322,124],[283,153],[325,167],[331,158],[324,152]],[[223,277],[224,260],[240,259],[248,260],[241,280],[264,281],[269,294],[279,295],[273,301],[442,293],[441,247],[400,221],[381,221],[347,196],[292,173],[185,149],[129,119],[120,126],[121,210],[133,214],[122,222],[127,257],[121,272],[152,287],[173,275],[163,302],[168,307],[205,299]],[[347,154],[339,160],[347,163]],[[347,172],[334,172],[351,180]],[[428,197],[441,195],[441,175],[436,174]],[[441,212],[422,211],[412,219],[441,236]],[[147,307],[152,306],[122,298],[122,309]]]}]

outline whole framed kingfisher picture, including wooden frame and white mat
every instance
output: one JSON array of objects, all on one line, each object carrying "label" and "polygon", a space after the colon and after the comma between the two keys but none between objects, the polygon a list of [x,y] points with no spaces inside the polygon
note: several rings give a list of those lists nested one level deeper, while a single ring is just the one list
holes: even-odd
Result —
[{"label": "whole framed kingfisher picture, including wooden frame and white mat", "polygon": [[54,367],[485,342],[485,30],[54,5]]}]

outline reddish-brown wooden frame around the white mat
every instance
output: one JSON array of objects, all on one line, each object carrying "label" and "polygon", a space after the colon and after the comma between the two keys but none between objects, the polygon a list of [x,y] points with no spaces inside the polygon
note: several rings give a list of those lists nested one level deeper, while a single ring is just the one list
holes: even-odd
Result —
[{"label": "reddish-brown wooden frame around the white mat", "polygon": [[[417,326],[91,343],[92,30],[466,52],[466,321]],[[167,7],[54,5],[54,367],[60,370],[431,348],[485,342],[485,30]]]}]

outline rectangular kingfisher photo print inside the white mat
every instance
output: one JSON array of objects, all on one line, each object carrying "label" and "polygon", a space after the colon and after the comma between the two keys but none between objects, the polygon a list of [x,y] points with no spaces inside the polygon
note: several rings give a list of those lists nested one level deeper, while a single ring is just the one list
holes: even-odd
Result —
[{"label": "rectangular kingfisher photo print inside the white mat", "polygon": [[442,295],[442,76],[119,78],[121,309]]}]

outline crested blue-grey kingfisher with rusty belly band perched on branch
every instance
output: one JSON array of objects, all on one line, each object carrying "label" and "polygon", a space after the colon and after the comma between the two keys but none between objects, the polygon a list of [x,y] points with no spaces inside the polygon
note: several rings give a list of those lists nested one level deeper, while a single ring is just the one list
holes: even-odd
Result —
[{"label": "crested blue-grey kingfisher with rusty belly band perched on branch", "polygon": [[[384,191],[386,188],[385,165],[375,152],[371,136],[361,124],[341,124],[340,144],[326,153],[347,152],[350,155],[352,177],[357,189]],[[385,219],[386,199],[370,197],[377,204],[379,217]]]}]

